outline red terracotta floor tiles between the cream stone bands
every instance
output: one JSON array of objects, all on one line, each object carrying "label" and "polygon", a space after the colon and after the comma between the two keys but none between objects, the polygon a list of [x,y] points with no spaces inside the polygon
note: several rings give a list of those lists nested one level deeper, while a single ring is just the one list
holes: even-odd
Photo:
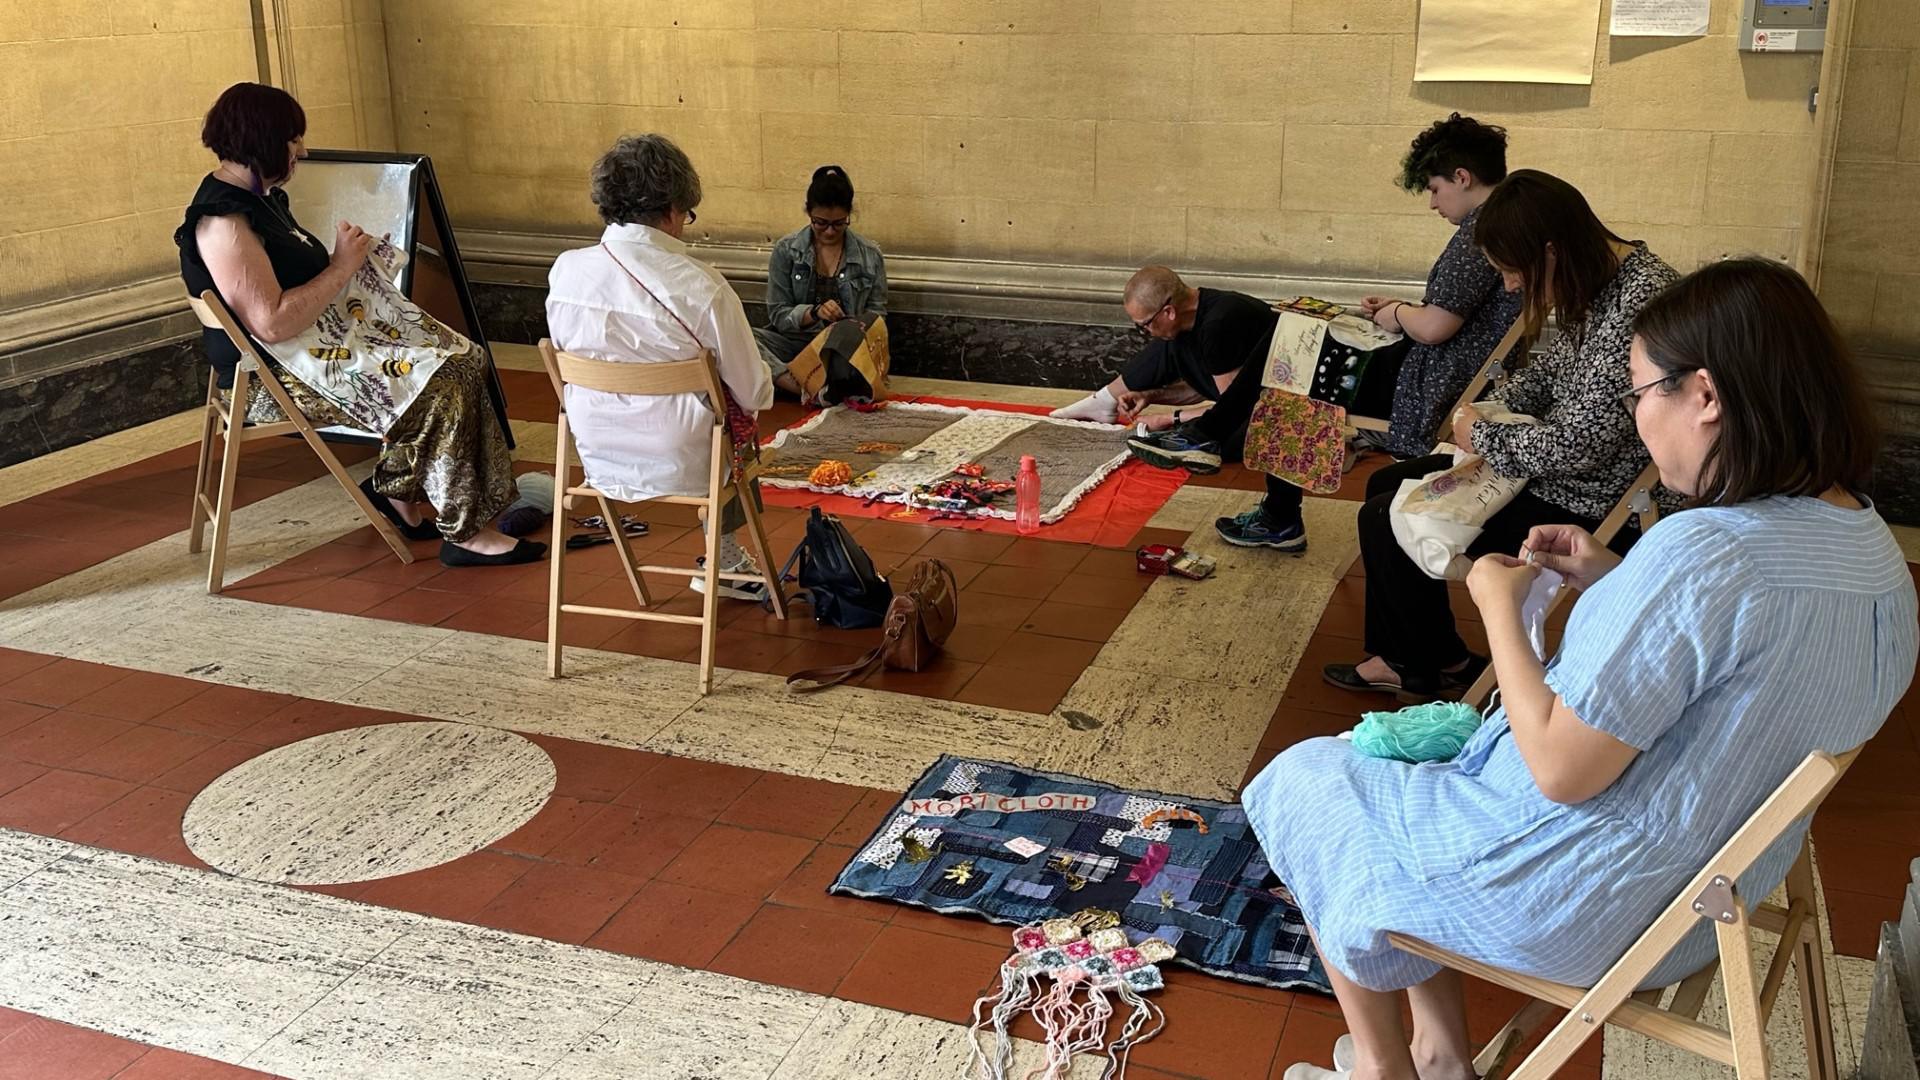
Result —
[{"label": "red terracotta floor tiles between the cream stone bands", "polygon": [[[1363,471],[1342,494],[1357,494]],[[300,446],[250,450],[240,498],[317,475]],[[1258,477],[1236,469],[1210,482],[1258,488]],[[190,486],[192,450],[182,450],[13,503],[0,530],[0,596],[179,530]],[[793,521],[780,515],[776,532],[791,538]],[[662,517],[649,540],[668,550],[691,534],[689,523]],[[950,667],[899,686],[935,698],[1050,709],[1142,588],[1121,565],[1123,552],[881,521],[856,534],[895,561],[941,555],[968,571],[964,609],[973,617]],[[401,567],[376,544],[363,530],[257,575],[232,596],[538,636],[538,573],[505,571],[493,588],[476,588],[442,580],[432,561]],[[574,588],[607,586],[611,567],[580,565],[586,584]],[[1319,665],[1357,655],[1361,590],[1357,569],[1336,588],[1248,773],[1300,738],[1350,724],[1359,703],[1321,684]],[[753,607],[732,607],[724,663],[783,671],[852,648],[804,617],[768,626]],[[1471,609],[1457,607],[1473,640]],[[597,644],[620,648],[614,638],[626,632],[609,630]],[[599,628],[588,625],[582,640],[593,634]],[[634,642],[630,651],[682,655],[674,648]],[[401,719],[409,717],[0,650],[0,826],[200,865],[179,822],[209,780],[273,746]],[[553,755],[559,786],[526,826],[430,871],[324,892],[954,1022],[968,1019],[1008,951],[996,926],[826,896],[895,792],[530,738]],[[1872,955],[1874,926],[1897,911],[1907,861],[1920,853],[1916,769],[1920,698],[1908,698],[1816,819],[1843,953]],[[672,794],[659,803],[674,813],[641,805],[641,790]],[[1292,1061],[1325,1061],[1342,1030],[1329,999],[1185,970],[1171,972],[1160,1001],[1171,1024],[1135,1055],[1133,1074],[1146,1080],[1279,1076]],[[1476,1032],[1490,1034],[1513,1007],[1511,995],[1478,986]],[[19,1013],[0,1011],[0,1078],[250,1074]],[[1597,1063],[1592,1043],[1563,1074],[1597,1078]]]}]

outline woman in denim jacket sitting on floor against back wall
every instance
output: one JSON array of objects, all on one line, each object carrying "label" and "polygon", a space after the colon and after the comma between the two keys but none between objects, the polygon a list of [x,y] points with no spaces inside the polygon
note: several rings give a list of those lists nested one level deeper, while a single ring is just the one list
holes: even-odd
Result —
[{"label": "woman in denim jacket sitting on floor against back wall", "polygon": [[[868,396],[885,388],[887,259],[851,219],[852,181],[839,165],[820,165],[806,184],[806,225],[781,236],[768,259],[766,325],[755,338],[774,384],[787,394],[818,398],[826,388],[822,350],[852,356],[862,338],[877,363],[879,384]],[[845,340],[833,342],[831,331]]]}]

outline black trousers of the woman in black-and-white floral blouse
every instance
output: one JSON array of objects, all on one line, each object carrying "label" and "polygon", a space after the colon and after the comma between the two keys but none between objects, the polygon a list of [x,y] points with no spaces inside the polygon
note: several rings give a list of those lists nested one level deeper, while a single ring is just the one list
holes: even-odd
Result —
[{"label": "black trousers of the woman in black-and-white floral blouse", "polygon": [[[1465,661],[1469,651],[1453,626],[1448,582],[1427,577],[1400,550],[1386,503],[1394,500],[1402,480],[1417,480],[1452,463],[1446,454],[1436,454],[1388,465],[1367,477],[1367,503],[1359,507],[1359,557],[1367,565],[1367,651],[1392,663],[1402,676],[1417,680],[1438,676],[1442,669]],[[1515,555],[1536,525],[1578,525],[1592,532],[1599,521],[1521,492],[1486,521],[1467,555]]]}]

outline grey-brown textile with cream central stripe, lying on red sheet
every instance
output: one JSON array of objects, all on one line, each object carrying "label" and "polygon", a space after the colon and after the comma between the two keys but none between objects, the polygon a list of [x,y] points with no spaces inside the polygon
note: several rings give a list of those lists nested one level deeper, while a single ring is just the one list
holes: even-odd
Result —
[{"label": "grey-brown textile with cream central stripe, lying on red sheet", "polygon": [[[1127,434],[1121,425],[924,402],[887,402],[874,411],[833,405],[760,450],[760,484],[904,503],[914,488],[950,479],[960,465],[981,465],[983,479],[1012,482],[1020,457],[1031,454],[1041,473],[1041,521],[1052,525],[1127,463]],[[814,484],[808,473],[822,461],[845,461],[852,479]],[[964,513],[1012,519],[1014,492]]]}]

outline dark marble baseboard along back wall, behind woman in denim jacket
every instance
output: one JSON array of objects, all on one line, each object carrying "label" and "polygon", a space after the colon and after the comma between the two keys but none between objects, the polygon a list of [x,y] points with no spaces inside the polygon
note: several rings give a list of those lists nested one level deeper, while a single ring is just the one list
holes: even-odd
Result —
[{"label": "dark marble baseboard along back wall, behind woman in denim jacket", "polygon": [[[474,284],[474,306],[488,340],[534,344],[547,332],[545,290],[520,284]],[[760,325],[766,307],[747,304],[747,321]],[[887,315],[887,342],[897,375],[1012,382],[1018,386],[1075,386],[1092,390],[1119,375],[1140,352],[1142,338],[1127,327],[1023,323],[966,315]]]}]

